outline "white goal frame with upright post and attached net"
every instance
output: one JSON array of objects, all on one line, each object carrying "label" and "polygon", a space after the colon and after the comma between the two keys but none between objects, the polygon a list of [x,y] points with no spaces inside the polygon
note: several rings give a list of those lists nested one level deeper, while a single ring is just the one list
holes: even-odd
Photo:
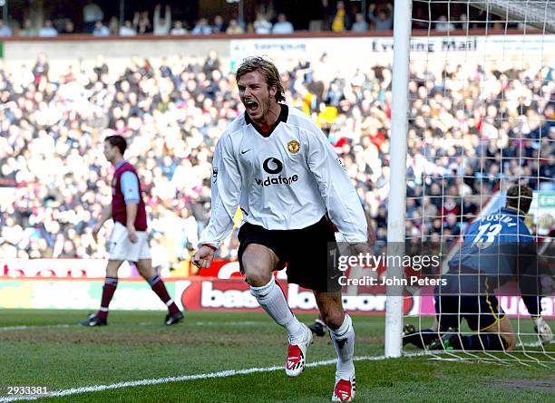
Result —
[{"label": "white goal frame with upright post and attached net", "polygon": [[[413,34],[413,24],[424,29]],[[405,254],[409,239],[436,239],[444,272],[472,220],[495,212],[511,184],[524,183],[534,192],[527,225],[552,262],[555,179],[542,165],[555,153],[554,34],[550,0],[394,1],[388,255]],[[409,187],[419,190],[407,199]],[[430,195],[439,202],[428,209]],[[467,204],[475,206],[470,213]],[[388,265],[386,276],[403,278],[404,271]],[[430,327],[433,293],[419,292],[387,286],[386,357],[403,355],[408,320]],[[407,293],[418,305],[411,318],[404,316]],[[507,293],[499,299],[513,323],[515,352],[463,350],[450,359],[555,362],[555,347],[541,345],[520,296]],[[555,330],[552,291],[544,302]],[[461,333],[472,331],[463,325]]]}]

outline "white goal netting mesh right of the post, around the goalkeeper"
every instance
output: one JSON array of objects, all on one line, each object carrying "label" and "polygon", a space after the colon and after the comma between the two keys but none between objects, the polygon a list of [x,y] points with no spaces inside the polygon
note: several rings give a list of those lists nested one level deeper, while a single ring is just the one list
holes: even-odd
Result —
[{"label": "white goal netting mesh right of the post, around the goalkeeper", "polygon": [[[555,2],[415,0],[412,22],[408,244],[433,247],[442,257],[441,273],[436,274],[445,275],[450,271],[447,262],[461,253],[464,234],[472,223],[504,206],[509,187],[527,185],[533,189],[533,200],[525,222],[552,270]],[[481,235],[488,234],[502,235],[494,234],[492,228],[483,229]],[[465,281],[463,271],[457,273],[458,280]],[[541,275],[542,317],[555,329],[552,272]],[[498,273],[497,278],[501,276]],[[490,350],[479,341],[478,348],[440,348],[428,353],[441,360],[553,365],[555,345],[540,342],[521,290],[514,284],[517,281],[495,290],[507,315],[503,321],[510,321],[514,331],[514,350]],[[418,302],[418,309],[404,315],[404,325],[414,324],[416,330],[433,328],[434,296],[441,292],[433,286],[407,288],[405,298]],[[472,308],[459,302],[461,337],[477,334],[466,321],[473,312],[466,310]],[[482,328],[482,319],[475,319]],[[407,344],[403,351],[416,350]]]}]

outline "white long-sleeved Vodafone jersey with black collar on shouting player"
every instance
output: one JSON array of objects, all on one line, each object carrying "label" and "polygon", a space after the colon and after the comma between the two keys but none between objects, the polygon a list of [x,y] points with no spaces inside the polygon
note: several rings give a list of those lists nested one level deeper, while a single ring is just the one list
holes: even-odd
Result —
[{"label": "white long-sleeved Vodafone jersey with black collar on shouting player", "polygon": [[250,224],[270,230],[305,228],[327,213],[349,243],[365,242],[360,199],[326,136],[300,110],[281,104],[268,134],[242,114],[216,145],[212,211],[200,245],[218,247],[240,206]]}]

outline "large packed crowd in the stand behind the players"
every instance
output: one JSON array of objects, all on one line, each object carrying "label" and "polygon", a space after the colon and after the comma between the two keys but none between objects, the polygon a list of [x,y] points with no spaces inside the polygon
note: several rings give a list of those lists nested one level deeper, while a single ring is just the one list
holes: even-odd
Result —
[{"label": "large packed crowd in the stand behind the players", "polygon": [[[209,220],[214,145],[242,110],[228,64],[214,52],[134,58],[115,82],[102,59],[92,72],[60,77],[44,56],[27,70],[2,71],[0,178],[15,187],[15,202],[1,207],[0,254],[102,257],[109,231],[98,243],[91,234],[111,200],[102,139],[121,134],[146,196],[154,264],[188,257]],[[325,64],[322,56],[282,72],[287,103],[311,114],[335,146],[384,242],[391,67],[346,76],[324,74]],[[407,235],[459,234],[501,178],[553,189],[552,74],[470,63],[446,66],[443,78],[411,73]],[[233,257],[236,246],[233,235],[219,254]]]}]

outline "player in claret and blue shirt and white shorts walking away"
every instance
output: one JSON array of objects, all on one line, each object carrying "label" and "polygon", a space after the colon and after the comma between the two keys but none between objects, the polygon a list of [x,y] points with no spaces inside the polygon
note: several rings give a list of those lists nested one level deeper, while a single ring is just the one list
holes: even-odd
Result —
[{"label": "player in claret and blue shirt and white shorts walking away", "polygon": [[114,222],[108,245],[106,280],[102,288],[101,308],[82,321],[83,326],[107,324],[108,306],[118,285],[118,269],[123,261],[136,264],[141,276],[151,284],[152,291],[168,307],[164,324],[167,326],[183,319],[183,313],[170,298],[160,276],[152,268],[148,245],[147,216],[141,197],[141,184],[135,168],[123,158],[127,143],[122,136],[109,136],[104,140],[104,156],[112,163],[115,172],[112,179],[112,205],[102,209],[102,217],[94,226],[96,237],[102,225],[110,218]]}]

